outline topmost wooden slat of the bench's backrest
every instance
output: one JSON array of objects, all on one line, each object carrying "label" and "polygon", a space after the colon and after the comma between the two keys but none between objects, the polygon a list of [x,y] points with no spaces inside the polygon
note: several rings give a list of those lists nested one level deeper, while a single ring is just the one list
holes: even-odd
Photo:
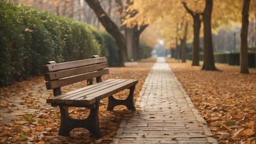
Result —
[{"label": "topmost wooden slat of the bench's backrest", "polygon": [[85,59],[80,61],[62,62],[58,64],[48,64],[48,65],[43,65],[43,72],[49,73],[50,71],[59,71],[59,70],[66,70],[69,68],[85,67],[88,65],[98,64],[102,62],[107,62],[107,59],[105,57],[100,57],[100,58],[91,58],[91,59]]}]

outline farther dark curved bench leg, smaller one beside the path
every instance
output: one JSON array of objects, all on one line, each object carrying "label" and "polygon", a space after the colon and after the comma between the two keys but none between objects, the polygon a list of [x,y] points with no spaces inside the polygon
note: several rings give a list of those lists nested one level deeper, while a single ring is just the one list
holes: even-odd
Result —
[{"label": "farther dark curved bench leg, smaller one beside the path", "polygon": [[115,106],[124,105],[127,107],[127,109],[135,111],[136,108],[134,106],[134,101],[133,101],[135,85],[130,87],[129,89],[130,89],[129,95],[125,100],[118,100],[118,99],[114,98],[113,95],[108,97],[109,104],[107,106],[107,110],[113,110]]}]

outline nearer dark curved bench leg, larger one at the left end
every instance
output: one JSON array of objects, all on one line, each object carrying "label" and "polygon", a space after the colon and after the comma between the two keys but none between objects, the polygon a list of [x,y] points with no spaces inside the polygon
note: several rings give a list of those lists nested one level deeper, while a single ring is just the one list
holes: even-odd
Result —
[{"label": "nearer dark curved bench leg, larger one at the left end", "polygon": [[60,106],[60,136],[69,136],[70,131],[77,127],[86,128],[92,136],[96,138],[102,137],[100,126],[98,124],[98,108],[100,103],[97,101],[95,107],[90,110],[86,119],[74,119],[69,116],[68,107]]}]

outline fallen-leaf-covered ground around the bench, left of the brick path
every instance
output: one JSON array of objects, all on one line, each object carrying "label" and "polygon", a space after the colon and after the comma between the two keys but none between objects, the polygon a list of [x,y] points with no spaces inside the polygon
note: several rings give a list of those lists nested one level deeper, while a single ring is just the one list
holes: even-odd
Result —
[{"label": "fallen-leaf-covered ground around the bench, left of the brick path", "polygon": [[[135,100],[142,84],[154,62],[136,62],[122,68],[109,68],[110,74],[103,79],[138,79],[135,89]],[[86,86],[86,82],[65,86],[63,92]],[[30,80],[16,82],[11,86],[0,88],[0,143],[109,143],[122,119],[133,115],[124,106],[117,106],[113,111],[106,110],[107,98],[100,101],[99,123],[103,137],[95,139],[88,130],[75,128],[70,137],[59,136],[60,112],[58,107],[45,104],[48,97],[53,97],[47,91],[42,77],[31,77]],[[129,91],[114,95],[116,98],[126,98]],[[43,101],[43,103],[42,103]],[[139,107],[135,103],[136,107]],[[86,118],[88,109],[69,107],[72,118]],[[11,118],[11,122],[6,121]]]}]

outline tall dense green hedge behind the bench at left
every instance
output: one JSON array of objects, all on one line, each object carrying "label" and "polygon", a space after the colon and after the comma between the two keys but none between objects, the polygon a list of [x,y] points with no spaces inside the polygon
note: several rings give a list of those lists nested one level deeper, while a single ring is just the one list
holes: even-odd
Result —
[{"label": "tall dense green hedge behind the bench at left", "polygon": [[0,2],[0,86],[42,72],[46,61],[73,61],[100,54],[92,28],[29,7]]}]

